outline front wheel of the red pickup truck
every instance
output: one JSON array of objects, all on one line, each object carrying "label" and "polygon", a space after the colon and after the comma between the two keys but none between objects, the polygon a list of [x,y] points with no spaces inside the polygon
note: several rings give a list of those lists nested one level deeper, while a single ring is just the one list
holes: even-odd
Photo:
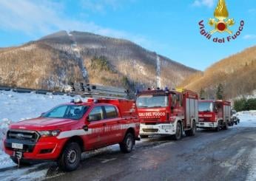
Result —
[{"label": "front wheel of the red pickup truck", "polygon": [[65,146],[61,157],[58,159],[58,166],[64,171],[74,171],[78,168],[81,160],[81,148],[78,143],[72,142]]}]

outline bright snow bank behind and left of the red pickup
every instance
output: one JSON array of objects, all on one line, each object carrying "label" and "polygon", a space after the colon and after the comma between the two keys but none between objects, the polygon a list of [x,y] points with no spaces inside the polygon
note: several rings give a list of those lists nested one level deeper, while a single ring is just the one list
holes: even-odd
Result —
[{"label": "bright snow bank behind and left of the red pickup", "polygon": [[58,104],[70,102],[71,99],[67,95],[0,91],[0,168],[13,165],[2,148],[2,140],[10,123],[38,117],[42,112],[47,112]]}]

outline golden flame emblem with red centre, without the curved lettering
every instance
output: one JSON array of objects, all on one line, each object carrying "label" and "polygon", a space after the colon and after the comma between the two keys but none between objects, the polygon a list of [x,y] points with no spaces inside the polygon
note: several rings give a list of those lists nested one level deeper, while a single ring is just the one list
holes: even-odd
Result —
[{"label": "golden flame emblem with red centre, without the curved lettering", "polygon": [[[214,26],[215,30],[212,30],[210,33],[229,33],[232,34],[232,31],[229,30],[229,27],[233,26],[235,24],[234,18],[229,18],[225,21],[226,18],[229,17],[229,11],[226,8],[226,2],[225,0],[219,0],[218,6],[215,9],[214,13],[215,18],[209,19],[209,25]],[[218,21],[216,21],[218,19]]]}]

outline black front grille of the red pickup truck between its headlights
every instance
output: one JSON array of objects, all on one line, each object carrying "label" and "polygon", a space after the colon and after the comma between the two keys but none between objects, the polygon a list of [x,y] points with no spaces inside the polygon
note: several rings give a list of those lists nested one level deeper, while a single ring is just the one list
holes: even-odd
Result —
[{"label": "black front grille of the red pickup truck between its headlights", "polygon": [[35,131],[28,131],[22,129],[10,129],[7,132],[7,139],[26,141],[36,143],[40,135]]}]

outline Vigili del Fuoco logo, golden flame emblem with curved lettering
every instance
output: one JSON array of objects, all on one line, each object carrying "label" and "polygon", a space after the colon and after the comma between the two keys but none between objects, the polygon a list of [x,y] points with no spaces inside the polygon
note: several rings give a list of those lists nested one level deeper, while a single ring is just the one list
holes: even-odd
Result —
[{"label": "Vigili del Fuoco logo, golden flame emblem with curved lettering", "polygon": [[[203,20],[201,20],[198,23],[201,35],[203,35],[207,39],[212,40],[215,43],[222,44],[225,42],[235,40],[242,33],[243,26],[244,26],[243,20],[240,21],[239,28],[236,33],[233,34],[232,30],[229,29],[229,27],[232,27],[235,24],[235,20],[234,20],[234,18],[229,18],[229,12],[226,7],[225,0],[218,1],[218,5],[215,9],[214,16],[215,16],[215,18],[209,18],[209,22],[208,22],[209,26],[214,27],[214,29],[211,30],[210,32],[207,32],[205,30]],[[226,36],[226,38],[225,37],[224,38],[223,37],[215,37],[215,38],[212,37],[213,34],[218,34],[218,33],[219,34],[228,33],[229,36]]]}]

